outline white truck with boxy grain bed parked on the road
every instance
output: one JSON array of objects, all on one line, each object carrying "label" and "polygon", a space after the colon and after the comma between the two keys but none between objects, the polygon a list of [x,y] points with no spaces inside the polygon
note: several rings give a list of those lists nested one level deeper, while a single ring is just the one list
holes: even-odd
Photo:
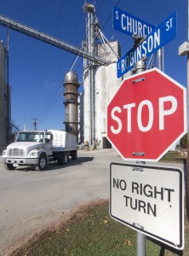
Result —
[{"label": "white truck with boxy grain bed parked on the road", "polygon": [[7,170],[18,166],[35,166],[43,171],[50,161],[66,165],[77,159],[77,137],[56,130],[19,131],[15,143],[9,144],[3,151],[3,164]]}]

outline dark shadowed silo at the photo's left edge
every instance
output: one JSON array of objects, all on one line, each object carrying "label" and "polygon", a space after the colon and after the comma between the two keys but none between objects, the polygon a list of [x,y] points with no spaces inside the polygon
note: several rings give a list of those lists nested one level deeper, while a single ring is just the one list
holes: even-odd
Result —
[{"label": "dark shadowed silo at the photo's left edge", "polygon": [[10,87],[6,83],[6,49],[0,42],[0,151],[9,144]]}]

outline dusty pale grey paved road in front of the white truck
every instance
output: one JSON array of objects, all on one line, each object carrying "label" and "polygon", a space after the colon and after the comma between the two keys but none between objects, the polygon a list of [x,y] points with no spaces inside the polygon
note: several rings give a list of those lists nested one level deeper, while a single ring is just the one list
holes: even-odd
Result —
[{"label": "dusty pale grey paved road in front of the white truck", "polygon": [[123,162],[113,149],[82,151],[67,166],[6,171],[0,159],[0,255],[9,253],[79,205],[109,197],[110,162]]}]

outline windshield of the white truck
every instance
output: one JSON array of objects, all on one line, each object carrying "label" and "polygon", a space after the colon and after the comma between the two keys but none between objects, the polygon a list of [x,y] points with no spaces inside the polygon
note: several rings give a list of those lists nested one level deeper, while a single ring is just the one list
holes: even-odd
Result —
[{"label": "windshield of the white truck", "polygon": [[43,132],[37,131],[21,131],[18,134],[17,142],[37,142],[43,143]]}]

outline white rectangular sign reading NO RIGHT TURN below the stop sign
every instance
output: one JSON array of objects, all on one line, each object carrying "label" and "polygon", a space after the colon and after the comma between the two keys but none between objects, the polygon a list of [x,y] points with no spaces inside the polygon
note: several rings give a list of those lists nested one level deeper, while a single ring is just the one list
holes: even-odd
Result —
[{"label": "white rectangular sign reading NO RIGHT TURN below the stop sign", "polygon": [[184,248],[183,191],[179,168],[110,166],[111,217],[179,250]]}]

